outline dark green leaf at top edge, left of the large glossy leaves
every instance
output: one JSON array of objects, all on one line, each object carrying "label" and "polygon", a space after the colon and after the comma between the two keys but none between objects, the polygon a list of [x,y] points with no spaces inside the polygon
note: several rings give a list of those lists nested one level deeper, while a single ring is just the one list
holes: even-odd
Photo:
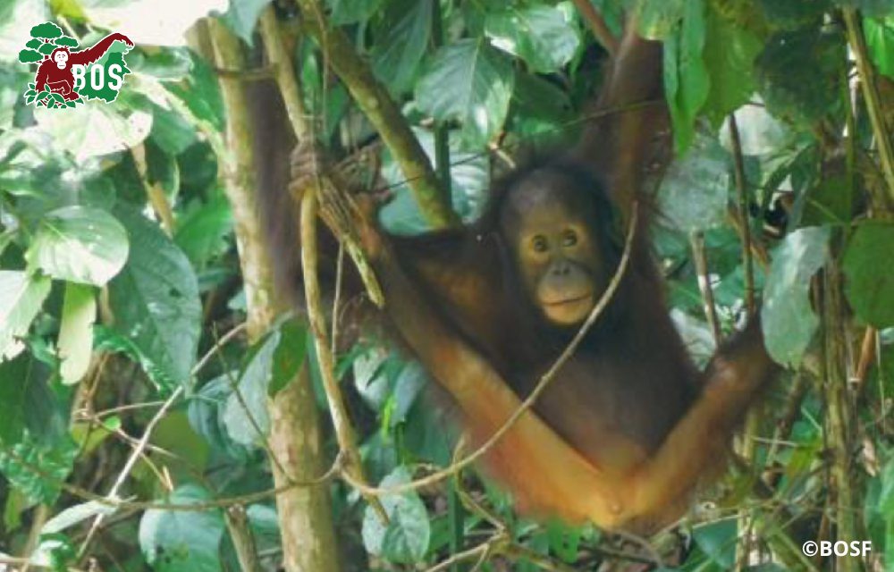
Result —
[{"label": "dark green leaf at top edge, left of the large glossy leaves", "polygon": [[413,87],[431,36],[434,1],[389,2],[382,22],[376,25],[373,69],[392,93],[400,94]]}]

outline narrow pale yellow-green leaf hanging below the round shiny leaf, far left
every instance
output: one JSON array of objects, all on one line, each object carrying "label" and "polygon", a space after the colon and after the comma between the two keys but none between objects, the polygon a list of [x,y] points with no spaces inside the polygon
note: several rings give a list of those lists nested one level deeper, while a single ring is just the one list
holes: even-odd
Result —
[{"label": "narrow pale yellow-green leaf hanging below the round shiny leaf, far left", "polygon": [[74,282],[65,284],[57,344],[64,383],[78,383],[87,373],[90,352],[93,349],[93,323],[96,319],[97,300],[93,289]]}]

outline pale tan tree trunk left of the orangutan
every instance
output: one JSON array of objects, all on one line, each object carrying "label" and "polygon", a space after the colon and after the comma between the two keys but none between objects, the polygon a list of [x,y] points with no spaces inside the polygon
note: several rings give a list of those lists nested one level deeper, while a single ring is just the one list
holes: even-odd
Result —
[{"label": "pale tan tree trunk left of the orangutan", "polygon": [[[219,22],[207,21],[215,67],[244,69],[240,42]],[[255,203],[255,156],[252,140],[257,133],[250,121],[245,86],[230,74],[221,76],[226,108],[226,157],[224,189],[232,205],[240,266],[248,306],[249,338],[266,332],[283,300],[273,288],[273,272],[267,257]],[[274,457],[277,487],[314,480],[324,472],[323,438],[307,366],[270,400],[271,428],[268,453]],[[284,473],[283,473],[284,472]],[[338,569],[332,507],[327,483],[292,486],[276,498],[283,542],[283,566],[287,572],[330,572]]]}]

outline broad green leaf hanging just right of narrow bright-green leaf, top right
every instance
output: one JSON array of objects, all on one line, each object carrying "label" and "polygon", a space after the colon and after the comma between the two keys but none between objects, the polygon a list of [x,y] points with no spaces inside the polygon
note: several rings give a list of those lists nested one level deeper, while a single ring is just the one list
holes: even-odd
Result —
[{"label": "broad green leaf hanging just right of narrow bright-green leaf, top right", "polygon": [[704,114],[717,129],[755,93],[754,63],[762,45],[750,31],[709,6],[704,46],[704,65],[710,77]]}]

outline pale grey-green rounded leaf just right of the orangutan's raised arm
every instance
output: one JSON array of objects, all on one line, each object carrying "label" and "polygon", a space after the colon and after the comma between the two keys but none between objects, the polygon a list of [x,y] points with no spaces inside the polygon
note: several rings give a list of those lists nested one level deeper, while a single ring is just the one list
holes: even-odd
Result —
[{"label": "pale grey-green rounded leaf just right of the orangutan's raised arm", "polygon": [[658,189],[661,213],[683,231],[706,230],[726,220],[732,189],[730,154],[713,137],[699,136],[671,163]]}]

